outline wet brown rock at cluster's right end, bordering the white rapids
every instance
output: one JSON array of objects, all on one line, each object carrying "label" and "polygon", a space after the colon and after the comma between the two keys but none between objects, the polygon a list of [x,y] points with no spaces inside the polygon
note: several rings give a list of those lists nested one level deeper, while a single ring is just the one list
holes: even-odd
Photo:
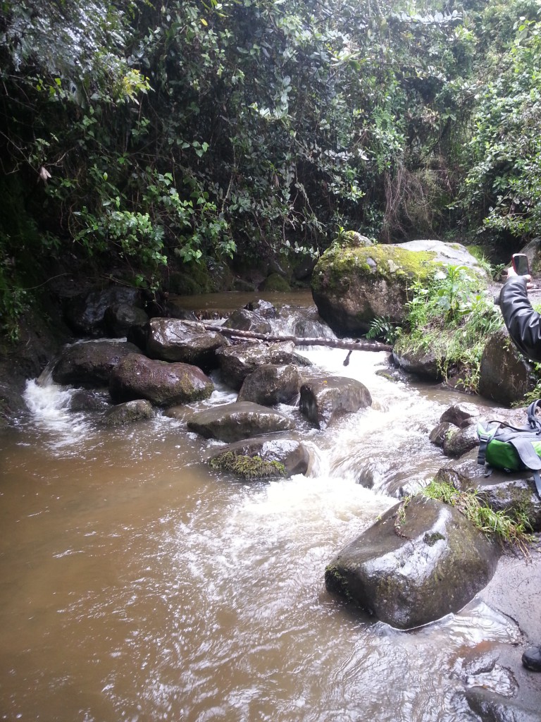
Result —
[{"label": "wet brown rock at cluster's right end, bordering the white rapids", "polygon": [[341,415],[371,404],[369,390],[353,378],[326,376],[307,380],[301,386],[301,412],[317,429],[325,429]]}]

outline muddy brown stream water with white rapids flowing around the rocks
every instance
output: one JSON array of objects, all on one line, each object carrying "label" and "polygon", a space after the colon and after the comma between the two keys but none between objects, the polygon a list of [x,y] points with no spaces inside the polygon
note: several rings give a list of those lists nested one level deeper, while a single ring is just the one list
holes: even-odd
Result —
[{"label": "muddy brown stream water with white rapids flowing around the rocks", "polygon": [[[398,487],[443,465],[427,432],[459,397],[382,378],[382,353],[302,353],[374,404],[322,432],[281,406],[312,462],[270,483],[211,471],[219,443],[182,420],[105,429],[67,411],[70,388],[29,383],[29,416],[0,435],[0,719],[478,719],[455,695],[462,660],[516,642],[509,619],[474,600],[400,632],[323,581]],[[216,383],[196,407],[236,398]]]}]

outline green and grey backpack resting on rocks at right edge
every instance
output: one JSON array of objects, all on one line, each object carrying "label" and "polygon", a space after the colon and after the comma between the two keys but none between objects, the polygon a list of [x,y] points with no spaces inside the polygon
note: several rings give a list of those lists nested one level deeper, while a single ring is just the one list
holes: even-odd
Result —
[{"label": "green and grey backpack resting on rocks at right edge", "polygon": [[528,406],[528,423],[522,427],[503,421],[489,421],[486,428],[478,424],[477,461],[493,469],[533,471],[537,494],[541,497],[541,422],[535,416],[537,408],[541,410],[541,399]]}]

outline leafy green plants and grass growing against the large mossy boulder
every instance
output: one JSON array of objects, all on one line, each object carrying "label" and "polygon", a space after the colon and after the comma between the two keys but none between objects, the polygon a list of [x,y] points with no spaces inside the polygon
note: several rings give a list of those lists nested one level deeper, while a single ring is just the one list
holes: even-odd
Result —
[{"label": "leafy green plants and grass growing against the large mossy boulder", "polygon": [[410,288],[404,347],[436,355],[441,373],[461,376],[468,391],[477,391],[486,341],[501,328],[501,313],[480,288],[483,282],[464,266],[437,271]]}]

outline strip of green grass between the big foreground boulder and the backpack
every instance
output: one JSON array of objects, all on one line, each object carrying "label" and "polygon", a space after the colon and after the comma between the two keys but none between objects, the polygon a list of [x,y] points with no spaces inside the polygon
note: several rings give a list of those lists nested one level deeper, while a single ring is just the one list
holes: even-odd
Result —
[{"label": "strip of green grass between the big foreground boulder and the backpack", "polygon": [[494,511],[483,503],[478,491],[459,491],[452,484],[437,479],[433,479],[419,493],[428,499],[454,506],[486,536],[496,536],[498,540],[514,545],[528,555],[528,546],[535,538],[529,534],[531,526],[527,516],[520,510],[512,514]]}]

